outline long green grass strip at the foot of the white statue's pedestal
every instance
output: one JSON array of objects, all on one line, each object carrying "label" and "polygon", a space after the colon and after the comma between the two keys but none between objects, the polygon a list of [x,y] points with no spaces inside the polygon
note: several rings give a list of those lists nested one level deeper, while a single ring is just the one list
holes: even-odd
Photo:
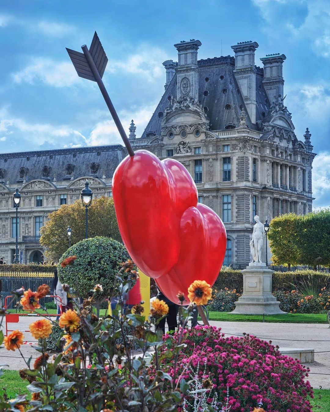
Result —
[{"label": "long green grass strip at the foot of the white statue's pedestal", "polygon": [[[208,314],[210,321],[263,322],[262,315],[239,315],[227,312],[209,312]],[[264,321],[267,323],[327,323],[327,315],[324,313],[265,315]]]}]

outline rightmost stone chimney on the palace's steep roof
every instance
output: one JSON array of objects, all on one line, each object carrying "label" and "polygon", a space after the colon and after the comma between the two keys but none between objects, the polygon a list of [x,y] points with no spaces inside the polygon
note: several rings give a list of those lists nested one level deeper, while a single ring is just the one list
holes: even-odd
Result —
[{"label": "rightmost stone chimney on the palace's steep roof", "polygon": [[283,96],[284,80],[282,66],[285,59],[286,56],[279,53],[266,54],[266,57],[260,59],[264,65],[264,80],[262,80],[262,83],[270,103],[273,102],[274,98],[277,98],[279,94]]}]

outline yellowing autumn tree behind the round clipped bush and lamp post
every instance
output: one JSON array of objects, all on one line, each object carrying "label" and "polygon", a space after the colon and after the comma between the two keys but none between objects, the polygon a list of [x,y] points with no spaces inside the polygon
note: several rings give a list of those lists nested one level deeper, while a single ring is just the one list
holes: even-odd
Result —
[{"label": "yellowing autumn tree behind the round clipped bush and lamp post", "polygon": [[[47,260],[57,261],[68,249],[66,229],[72,229],[71,245],[85,238],[85,208],[80,200],[62,205],[49,213],[49,220],[40,229],[40,243],[47,248]],[[88,208],[88,236],[107,236],[121,241],[112,197],[93,199]]]}]

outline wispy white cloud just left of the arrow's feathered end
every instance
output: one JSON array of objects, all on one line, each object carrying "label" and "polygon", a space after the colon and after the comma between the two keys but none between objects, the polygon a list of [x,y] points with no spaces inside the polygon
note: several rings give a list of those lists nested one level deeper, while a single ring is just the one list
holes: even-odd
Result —
[{"label": "wispy white cloud just left of the arrow's feathered end", "polygon": [[13,73],[12,78],[16,83],[34,84],[41,81],[54,87],[71,86],[79,80],[70,61],[56,62],[41,57],[33,59],[33,62],[26,68]]}]

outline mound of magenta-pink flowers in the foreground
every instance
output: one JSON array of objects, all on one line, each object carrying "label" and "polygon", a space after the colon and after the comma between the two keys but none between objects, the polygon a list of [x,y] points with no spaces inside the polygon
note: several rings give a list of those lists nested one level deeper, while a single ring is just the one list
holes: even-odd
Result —
[{"label": "mound of magenta-pink flowers in the foreground", "polygon": [[[166,335],[166,346],[162,349],[163,362],[168,364],[171,377],[178,334],[180,330],[173,337]],[[309,382],[304,381],[308,369],[281,355],[270,343],[250,335],[224,337],[215,326],[187,330],[184,343],[187,346],[179,354],[176,377],[189,380],[190,366],[201,381],[210,379],[209,398],[216,394],[224,404],[228,387],[230,412],[250,412],[260,401],[267,412],[312,411],[308,397],[313,397],[313,391]],[[191,401],[189,394],[186,397]]]}]

